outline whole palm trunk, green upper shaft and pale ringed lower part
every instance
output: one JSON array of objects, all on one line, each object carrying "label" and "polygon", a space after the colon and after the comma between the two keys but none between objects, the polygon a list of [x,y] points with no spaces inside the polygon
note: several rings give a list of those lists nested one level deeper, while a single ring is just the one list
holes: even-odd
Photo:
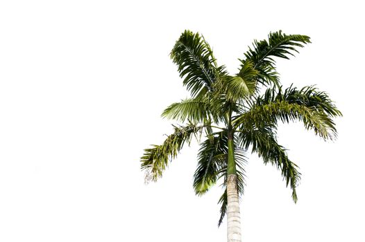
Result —
[{"label": "whole palm trunk, green upper shaft and pale ringed lower part", "polygon": [[239,215],[235,144],[231,132],[228,132],[227,238],[228,242],[241,242],[241,216]]}]

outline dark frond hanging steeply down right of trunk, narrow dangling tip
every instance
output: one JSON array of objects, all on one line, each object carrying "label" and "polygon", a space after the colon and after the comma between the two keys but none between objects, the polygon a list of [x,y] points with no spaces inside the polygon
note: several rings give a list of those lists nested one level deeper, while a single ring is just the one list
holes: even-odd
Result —
[{"label": "dark frond hanging steeply down right of trunk, narrow dangling tip", "polygon": [[244,130],[238,133],[239,143],[246,149],[251,147],[252,152],[257,153],[266,164],[270,162],[280,169],[282,177],[286,180],[287,186],[290,184],[291,197],[296,203],[296,186],[300,180],[298,166],[289,160],[285,148],[278,145],[275,132],[270,128]]}]

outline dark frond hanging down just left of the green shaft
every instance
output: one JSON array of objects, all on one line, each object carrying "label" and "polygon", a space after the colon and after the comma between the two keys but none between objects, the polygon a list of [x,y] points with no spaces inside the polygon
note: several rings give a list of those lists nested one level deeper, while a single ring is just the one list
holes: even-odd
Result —
[{"label": "dark frond hanging down just left of the green shaft", "polygon": [[201,143],[198,153],[198,167],[194,174],[193,187],[198,195],[205,194],[226,170],[226,132],[219,132]]}]

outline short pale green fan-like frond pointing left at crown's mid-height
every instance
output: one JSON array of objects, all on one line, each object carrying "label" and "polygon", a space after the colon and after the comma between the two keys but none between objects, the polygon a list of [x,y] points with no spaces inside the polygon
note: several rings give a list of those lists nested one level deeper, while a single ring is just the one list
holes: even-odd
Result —
[{"label": "short pale green fan-like frond pointing left at crown's mid-height", "polygon": [[163,118],[169,118],[180,122],[190,120],[192,122],[203,123],[210,120],[212,110],[210,105],[203,99],[189,98],[181,102],[175,102],[167,107],[162,113]]}]

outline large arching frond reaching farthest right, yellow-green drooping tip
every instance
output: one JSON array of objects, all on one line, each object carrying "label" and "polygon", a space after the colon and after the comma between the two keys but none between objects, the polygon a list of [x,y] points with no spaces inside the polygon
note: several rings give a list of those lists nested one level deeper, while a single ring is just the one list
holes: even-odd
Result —
[{"label": "large arching frond reaching farthest right, yellow-green drooping tip", "polygon": [[278,120],[289,122],[299,120],[306,129],[323,139],[334,139],[337,136],[332,117],[341,115],[328,95],[305,87],[300,91],[289,87],[284,93],[275,88],[268,89],[262,97],[251,103],[251,109],[235,118],[235,126],[262,128],[276,126]]}]

